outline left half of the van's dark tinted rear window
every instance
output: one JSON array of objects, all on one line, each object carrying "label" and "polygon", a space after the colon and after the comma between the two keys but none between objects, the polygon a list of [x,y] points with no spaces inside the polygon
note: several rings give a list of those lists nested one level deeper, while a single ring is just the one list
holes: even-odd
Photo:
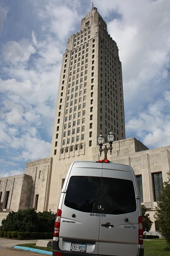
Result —
[{"label": "left half of the van's dark tinted rear window", "polygon": [[82,212],[93,212],[101,199],[101,177],[71,176],[64,205]]}]

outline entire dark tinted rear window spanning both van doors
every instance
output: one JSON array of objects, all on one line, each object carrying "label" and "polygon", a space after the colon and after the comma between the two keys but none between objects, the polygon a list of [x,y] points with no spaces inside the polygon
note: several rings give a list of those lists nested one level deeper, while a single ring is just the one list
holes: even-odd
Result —
[{"label": "entire dark tinted rear window spanning both van doors", "polygon": [[[100,204],[102,212],[98,211]],[[81,212],[115,215],[137,209],[132,181],[96,176],[71,176],[64,205]]]}]

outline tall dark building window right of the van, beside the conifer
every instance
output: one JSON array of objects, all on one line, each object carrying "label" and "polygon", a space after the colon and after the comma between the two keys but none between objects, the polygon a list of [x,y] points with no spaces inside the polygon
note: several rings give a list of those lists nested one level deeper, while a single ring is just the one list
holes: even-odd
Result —
[{"label": "tall dark building window right of the van, beside the conifer", "polygon": [[153,173],[153,191],[154,191],[154,202],[159,201],[159,195],[162,191],[162,172]]}]

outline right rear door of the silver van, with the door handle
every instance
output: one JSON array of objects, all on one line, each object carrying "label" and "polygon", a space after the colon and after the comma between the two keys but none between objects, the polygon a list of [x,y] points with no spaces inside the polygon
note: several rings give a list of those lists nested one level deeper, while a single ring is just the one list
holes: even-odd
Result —
[{"label": "right rear door of the silver van, with the door handle", "polygon": [[103,164],[98,254],[138,254],[138,205],[129,166]]}]

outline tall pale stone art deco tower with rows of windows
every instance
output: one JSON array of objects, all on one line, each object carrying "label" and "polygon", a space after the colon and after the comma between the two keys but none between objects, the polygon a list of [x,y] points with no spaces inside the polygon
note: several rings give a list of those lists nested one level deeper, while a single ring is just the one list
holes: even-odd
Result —
[{"label": "tall pale stone art deco tower with rows of windows", "polygon": [[63,54],[51,146],[52,211],[57,209],[52,194],[58,199],[70,163],[94,160],[98,136],[110,131],[115,140],[125,139],[122,67],[106,22],[92,7]]}]

